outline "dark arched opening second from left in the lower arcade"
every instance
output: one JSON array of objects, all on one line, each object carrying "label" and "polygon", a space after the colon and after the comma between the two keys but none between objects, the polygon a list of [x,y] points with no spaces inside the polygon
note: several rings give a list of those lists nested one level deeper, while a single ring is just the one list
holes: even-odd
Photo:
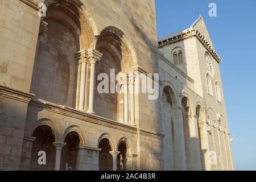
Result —
[{"label": "dark arched opening second from left in the lower arcade", "polygon": [[80,137],[75,131],[68,133],[65,137],[65,146],[61,150],[61,167],[63,171],[76,170],[77,153],[80,146]]}]

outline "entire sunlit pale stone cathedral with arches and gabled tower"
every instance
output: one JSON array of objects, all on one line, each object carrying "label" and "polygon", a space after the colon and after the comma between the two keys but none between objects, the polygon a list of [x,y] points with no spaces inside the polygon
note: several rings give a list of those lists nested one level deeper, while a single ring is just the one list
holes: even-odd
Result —
[{"label": "entire sunlit pale stone cathedral with arches and gabled tower", "polygon": [[201,16],[157,40],[154,0],[0,0],[0,169],[233,170],[220,63]]}]

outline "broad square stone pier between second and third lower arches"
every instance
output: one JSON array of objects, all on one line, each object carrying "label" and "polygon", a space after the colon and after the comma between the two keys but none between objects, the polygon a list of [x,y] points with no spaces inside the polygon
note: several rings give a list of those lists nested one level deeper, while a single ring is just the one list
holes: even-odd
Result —
[{"label": "broad square stone pier between second and third lower arches", "polygon": [[98,158],[101,148],[81,146],[77,153],[77,171],[98,171]]}]

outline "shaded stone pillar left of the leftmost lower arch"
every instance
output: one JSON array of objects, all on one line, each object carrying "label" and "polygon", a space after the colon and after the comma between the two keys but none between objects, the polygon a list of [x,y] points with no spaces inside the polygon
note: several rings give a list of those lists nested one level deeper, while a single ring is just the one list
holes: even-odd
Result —
[{"label": "shaded stone pillar left of the leftmost lower arch", "polygon": [[31,169],[31,152],[33,142],[36,140],[35,137],[24,136],[23,144],[22,144],[22,158],[20,162],[20,170],[30,170]]}]

